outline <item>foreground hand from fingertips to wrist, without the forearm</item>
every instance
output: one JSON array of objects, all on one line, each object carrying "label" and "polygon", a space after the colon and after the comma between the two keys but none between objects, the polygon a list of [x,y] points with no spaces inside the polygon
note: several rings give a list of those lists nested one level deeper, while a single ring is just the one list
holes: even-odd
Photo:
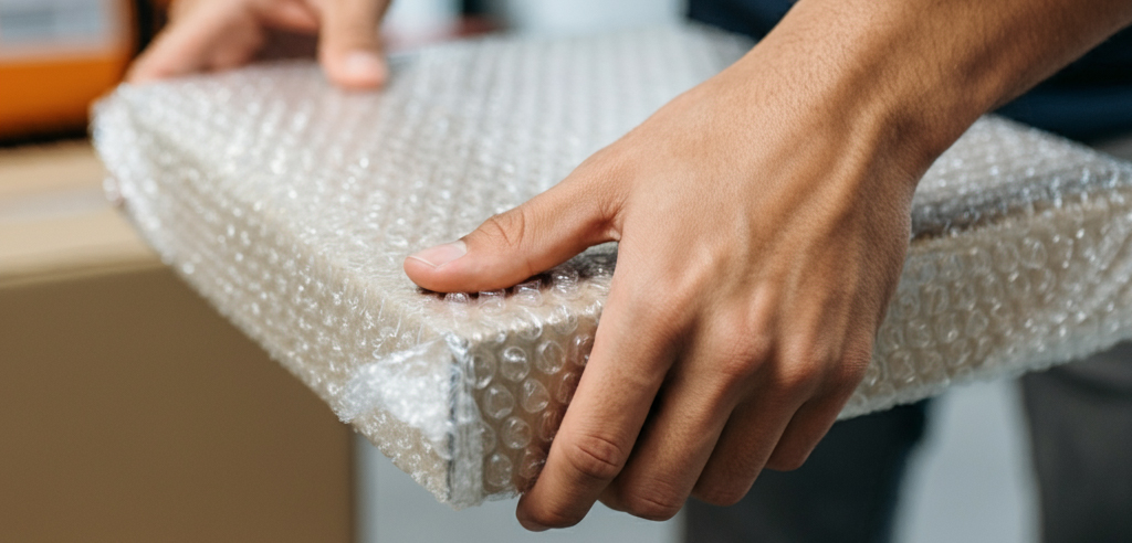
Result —
[{"label": "foreground hand from fingertips to wrist, without the forearm", "polygon": [[528,527],[599,498],[652,519],[689,494],[732,503],[764,466],[801,464],[863,376],[931,161],[872,111],[827,105],[865,96],[788,83],[826,67],[763,51],[405,261],[426,288],[474,292],[619,241],[590,362],[520,502]]}]

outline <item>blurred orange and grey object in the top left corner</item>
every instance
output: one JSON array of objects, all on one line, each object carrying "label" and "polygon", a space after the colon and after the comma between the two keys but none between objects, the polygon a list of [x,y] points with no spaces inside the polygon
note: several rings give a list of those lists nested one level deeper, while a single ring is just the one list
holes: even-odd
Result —
[{"label": "blurred orange and grey object in the top left corner", "polygon": [[0,0],[0,139],[83,129],[134,28],[129,0]]}]

